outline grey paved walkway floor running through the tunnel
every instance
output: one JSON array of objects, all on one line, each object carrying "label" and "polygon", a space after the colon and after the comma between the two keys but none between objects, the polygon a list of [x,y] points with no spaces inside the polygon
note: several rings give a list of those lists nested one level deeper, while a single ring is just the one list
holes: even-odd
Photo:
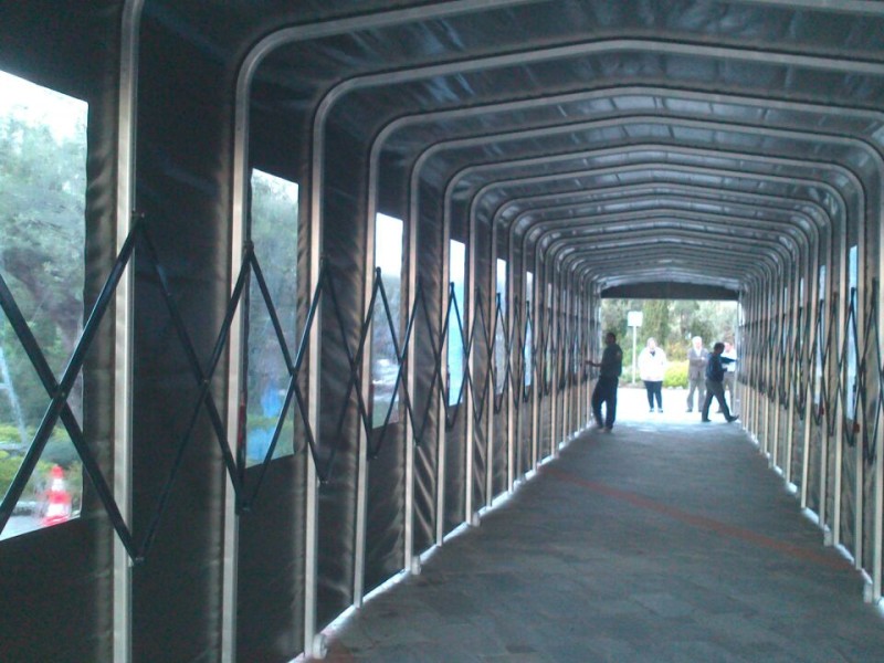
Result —
[{"label": "grey paved walkway floor running through the tunnel", "polygon": [[328,660],[884,661],[860,575],[746,432],[623,391],[613,433],[571,442],[369,600]]}]

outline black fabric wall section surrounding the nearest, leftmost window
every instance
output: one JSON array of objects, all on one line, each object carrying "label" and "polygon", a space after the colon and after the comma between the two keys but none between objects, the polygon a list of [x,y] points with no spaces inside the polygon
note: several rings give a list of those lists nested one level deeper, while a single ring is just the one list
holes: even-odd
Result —
[{"label": "black fabric wall section surrounding the nearest, leftmost window", "polygon": [[[90,104],[86,285],[90,309],[114,251],[118,2],[7,2],[0,70]],[[113,312],[112,312],[113,313]],[[113,326],[90,351],[81,425],[105,476],[113,436]],[[49,402],[49,397],[48,397]],[[80,518],[0,546],[0,660],[97,661],[112,648],[112,532],[84,477]]]}]

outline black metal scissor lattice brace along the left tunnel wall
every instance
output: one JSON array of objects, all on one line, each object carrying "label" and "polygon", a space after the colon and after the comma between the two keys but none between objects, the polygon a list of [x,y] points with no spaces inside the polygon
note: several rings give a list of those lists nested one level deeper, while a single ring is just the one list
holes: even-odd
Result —
[{"label": "black metal scissor lattice brace along the left tunnel wall", "polygon": [[[123,278],[126,270],[130,266],[133,256],[138,253],[139,262],[143,262],[147,269],[156,277],[161,299],[166,311],[172,322],[176,330],[176,337],[180,345],[181,350],[187,360],[189,372],[193,378],[197,386],[197,396],[191,404],[187,424],[183,433],[175,444],[175,452],[172,462],[169,469],[160,493],[155,503],[155,507],[146,518],[146,527],[140,536],[136,535],[130,529],[123,517],[123,514],[117,505],[113,491],[110,488],[107,477],[102,472],[95,454],[91,451],[86,443],[84,433],[77,422],[73,411],[67,403],[67,396],[77,377],[80,376],[85,361],[86,354],[94,343],[94,338],[98,325],[104,319],[107,311],[113,302],[115,291]],[[221,415],[221,410],[215,402],[215,397],[212,394],[211,385],[212,378],[218,370],[224,355],[224,348],[230,337],[231,327],[236,318],[238,309],[242,311],[243,316],[249,315],[249,285],[251,280],[255,280],[257,292],[261,299],[266,306],[270,315],[271,324],[273,327],[273,335],[275,341],[278,344],[280,351],[285,364],[287,372],[287,383],[285,397],[282,402],[282,408],[278,413],[277,420],[273,428],[273,435],[267,450],[264,455],[264,463],[257,470],[256,476],[252,482],[246,485],[246,466],[245,466],[245,402],[248,401],[248,393],[243,392],[239,402],[241,403],[241,412],[239,413],[238,421],[239,431],[229,431],[228,424]],[[427,435],[427,428],[429,422],[429,414],[432,408],[434,398],[440,398],[444,407],[444,425],[451,429],[455,425],[456,419],[461,408],[450,407],[451,393],[450,385],[445,383],[442,373],[443,364],[443,349],[445,344],[459,343],[460,349],[463,352],[464,366],[462,381],[459,389],[457,398],[454,401],[457,404],[463,404],[464,392],[469,386],[469,394],[473,404],[473,417],[478,422],[486,414],[488,386],[496,383],[497,368],[495,366],[495,352],[497,351],[498,344],[503,344],[504,356],[504,380],[503,380],[503,397],[496,404],[494,400],[493,411],[499,412],[504,399],[512,398],[513,406],[516,412],[523,402],[527,402],[530,398],[533,383],[525,385],[525,377],[527,371],[535,372],[535,380],[541,380],[541,393],[549,393],[551,381],[547,383],[545,373],[551,376],[551,369],[557,364],[561,367],[559,371],[560,380],[558,388],[562,389],[567,383],[565,381],[566,373],[569,371],[564,370],[567,366],[568,351],[577,351],[577,338],[566,341],[566,330],[562,328],[561,323],[554,326],[554,320],[550,316],[546,316],[546,324],[536,338],[534,334],[534,320],[532,317],[530,306],[525,307],[525,317],[522,319],[518,305],[515,306],[515,316],[513,328],[507,326],[506,316],[503,312],[499,295],[495,301],[494,316],[491,328],[488,327],[484,306],[482,304],[481,294],[476,297],[475,314],[472,315],[469,328],[464,324],[464,316],[461,309],[461,303],[457,302],[454,285],[449,284],[448,297],[444,317],[441,320],[440,332],[436,334],[433,329],[433,317],[430,314],[430,305],[428,302],[427,293],[421,284],[418,282],[415,296],[411,308],[404,312],[406,327],[404,332],[400,333],[399,320],[393,319],[393,313],[387,295],[387,291],[381,278],[380,270],[376,270],[375,277],[371,284],[371,296],[368,307],[368,315],[362,320],[359,327],[358,337],[355,341],[351,335],[348,334],[347,325],[338,302],[335,277],[327,263],[323,263],[319,270],[318,283],[312,293],[309,307],[307,311],[306,319],[304,320],[303,328],[301,329],[298,343],[294,351],[290,350],[285,341],[285,334],[282,323],[276,309],[276,306],[271,296],[261,263],[255,255],[254,246],[251,242],[246,242],[243,249],[243,259],[240,273],[234,282],[230,301],[228,302],[224,316],[222,319],[221,328],[215,337],[212,351],[209,358],[202,362],[199,359],[198,350],[194,346],[191,335],[187,330],[185,319],[177,305],[177,298],[172,292],[169,278],[161,261],[158,257],[156,248],[150,239],[148,225],[146,220],[136,214],[129,236],[126,239],[119,255],[117,256],[110,270],[96,302],[90,313],[86,324],[84,325],[83,333],[78,339],[76,347],[71,356],[71,359],[65,367],[61,379],[56,379],[53,375],[49,364],[41,350],[36,339],[28,326],[24,316],[22,315],[11,291],[9,290],[6,281],[0,276],[0,307],[10,322],[15,336],[25,351],[31,365],[33,366],[43,389],[46,392],[48,406],[33,439],[31,440],[28,452],[12,481],[12,484],[0,502],[0,532],[9,522],[17,502],[20,499],[24,487],[30,480],[31,475],[36,467],[36,463],[45,449],[49,438],[57,423],[61,421],[65,427],[71,440],[80,454],[83,463],[84,471],[94,487],[99,503],[105,509],[114,530],[125,546],[129,557],[135,562],[140,562],[149,555],[154,539],[159,530],[164,514],[170,498],[172,487],[181,474],[181,466],[183,464],[185,452],[191,444],[196,434],[197,424],[201,414],[207,414],[214,433],[215,441],[221,451],[221,456],[224,470],[230,477],[231,486],[236,495],[236,511],[238,513],[246,513],[251,505],[254,504],[267,470],[270,460],[277,448],[280,436],[283,431],[283,424],[288,417],[290,409],[294,407],[295,414],[299,419],[299,423],[304,430],[306,440],[306,450],[308,451],[312,462],[316,465],[317,476],[320,481],[327,481],[334,470],[336,455],[339,451],[338,445],[332,445],[327,450],[319,448],[319,442],[316,438],[316,432],[311,427],[308,418],[308,398],[299,386],[299,378],[303,377],[303,369],[305,359],[311,350],[309,338],[313,326],[318,324],[317,313],[322,307],[330,307],[332,319],[334,320],[335,329],[328,330],[334,333],[339,338],[339,347],[347,357],[347,365],[349,367],[349,375],[347,376],[347,383],[344,391],[341,401],[336,407],[336,430],[339,434],[334,435],[333,439],[340,440],[347,413],[356,410],[359,425],[362,428],[366,440],[368,440],[368,457],[376,457],[382,450],[383,443],[388,438],[390,430],[390,422],[393,409],[396,408],[397,398],[401,399],[402,407],[409,418],[413,430],[413,442],[422,444]],[[408,357],[410,344],[414,343],[415,338],[415,323],[422,319],[425,323],[427,339],[429,340],[430,351],[433,358],[433,373],[430,378],[430,388],[428,389],[427,398],[422,408],[422,417],[419,419],[412,404],[412,394],[409,392],[408,385],[403,379],[406,369],[406,358]],[[390,336],[392,337],[394,354],[398,362],[393,391],[390,401],[387,403],[383,423],[380,429],[372,429],[372,421],[369,412],[369,407],[365,401],[362,394],[362,358],[367,351],[366,345],[370,337],[372,325],[385,325]],[[502,329],[502,340],[498,339],[497,329]],[[248,343],[248,325],[244,334],[245,343]],[[454,334],[452,334],[454,330]],[[554,334],[555,333],[555,334]],[[554,338],[555,335],[555,338]],[[525,346],[528,339],[530,344],[530,366],[526,360]],[[487,366],[478,366],[476,359],[480,357],[476,352],[482,350],[481,357]],[[547,357],[547,350],[550,356]],[[538,360],[538,352],[540,360]],[[471,361],[471,359],[473,361]],[[549,362],[549,364],[547,364]],[[562,364],[564,362],[564,364]],[[472,367],[472,368],[471,368]],[[244,367],[248,370],[248,366]],[[476,385],[476,372],[484,376],[481,385]],[[570,377],[568,378],[570,379]],[[587,379],[587,376],[583,376]],[[495,382],[490,382],[494,380]],[[248,380],[243,381],[248,383]],[[243,386],[243,390],[246,387]],[[232,442],[231,442],[232,441]],[[338,443],[339,444],[339,443]],[[296,449],[295,453],[303,452],[304,449]]]}]

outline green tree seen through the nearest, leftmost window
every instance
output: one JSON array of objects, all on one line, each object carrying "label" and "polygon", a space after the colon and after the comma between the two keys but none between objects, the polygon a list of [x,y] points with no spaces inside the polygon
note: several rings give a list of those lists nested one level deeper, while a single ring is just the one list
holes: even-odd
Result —
[{"label": "green tree seen through the nearest, leftmost window", "polygon": [[[20,112],[0,117],[0,274],[56,375],[83,325],[84,122],[60,137]],[[34,422],[48,397],[4,316],[0,343],[21,409]],[[80,389],[70,402],[80,409]],[[7,398],[0,398],[0,418],[11,421]]]}]

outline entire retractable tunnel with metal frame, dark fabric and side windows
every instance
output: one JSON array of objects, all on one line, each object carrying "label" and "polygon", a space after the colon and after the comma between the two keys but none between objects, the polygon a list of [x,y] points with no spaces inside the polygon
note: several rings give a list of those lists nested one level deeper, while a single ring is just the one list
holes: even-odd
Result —
[{"label": "entire retractable tunnel with metal frame, dark fabric and side windows", "polygon": [[320,654],[589,424],[606,296],[739,302],[881,601],[881,4],[7,4],[0,657]]}]

